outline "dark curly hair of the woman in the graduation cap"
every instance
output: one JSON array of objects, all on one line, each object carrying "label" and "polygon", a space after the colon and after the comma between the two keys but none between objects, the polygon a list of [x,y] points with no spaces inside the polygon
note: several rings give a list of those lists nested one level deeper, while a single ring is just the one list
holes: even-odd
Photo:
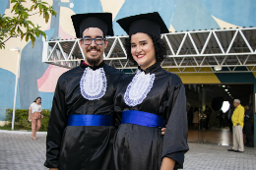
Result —
[{"label": "dark curly hair of the woman in the graduation cap", "polygon": [[[156,51],[156,59],[157,62],[162,62],[166,58],[167,54],[167,47],[165,42],[156,35],[147,33],[153,40],[155,51]],[[132,61],[134,64],[137,64],[136,61],[133,59],[132,53],[131,53],[131,36],[128,38],[125,38],[124,47],[127,53],[128,60]]]}]

